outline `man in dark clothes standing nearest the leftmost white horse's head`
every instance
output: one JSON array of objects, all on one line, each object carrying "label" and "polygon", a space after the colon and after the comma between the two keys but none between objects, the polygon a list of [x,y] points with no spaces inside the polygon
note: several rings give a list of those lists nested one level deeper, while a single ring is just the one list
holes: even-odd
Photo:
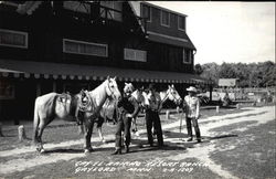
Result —
[{"label": "man in dark clothes standing nearest the leftmost white horse's head", "polygon": [[137,116],[139,110],[138,102],[131,96],[134,86],[125,83],[123,98],[118,102],[118,124],[115,134],[115,151],[113,155],[121,154],[121,131],[125,136],[126,152],[129,152],[131,119]]}]

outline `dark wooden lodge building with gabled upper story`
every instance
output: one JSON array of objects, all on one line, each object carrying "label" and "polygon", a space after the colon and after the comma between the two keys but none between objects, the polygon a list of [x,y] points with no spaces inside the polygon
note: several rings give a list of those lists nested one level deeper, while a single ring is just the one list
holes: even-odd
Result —
[{"label": "dark wooden lodge building with gabled upper story", "polygon": [[139,1],[0,1],[0,120],[32,119],[36,96],[106,76],[158,90],[211,85],[193,74],[185,14]]}]

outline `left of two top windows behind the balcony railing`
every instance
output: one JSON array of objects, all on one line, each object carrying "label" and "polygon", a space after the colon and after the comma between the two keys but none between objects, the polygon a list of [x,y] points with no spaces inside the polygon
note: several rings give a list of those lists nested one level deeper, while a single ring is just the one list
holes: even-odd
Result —
[{"label": "left of two top windows behind the balcony railing", "polygon": [[83,13],[91,13],[91,6],[85,2],[79,1],[64,1],[63,2],[64,9],[68,9],[72,11],[83,12]]}]

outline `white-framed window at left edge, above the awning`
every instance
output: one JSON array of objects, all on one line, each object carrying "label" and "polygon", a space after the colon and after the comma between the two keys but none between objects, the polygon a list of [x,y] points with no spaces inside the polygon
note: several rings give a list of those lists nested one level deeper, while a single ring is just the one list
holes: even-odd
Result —
[{"label": "white-framed window at left edge, above the awning", "polygon": [[28,33],[0,29],[0,45],[28,49]]}]

